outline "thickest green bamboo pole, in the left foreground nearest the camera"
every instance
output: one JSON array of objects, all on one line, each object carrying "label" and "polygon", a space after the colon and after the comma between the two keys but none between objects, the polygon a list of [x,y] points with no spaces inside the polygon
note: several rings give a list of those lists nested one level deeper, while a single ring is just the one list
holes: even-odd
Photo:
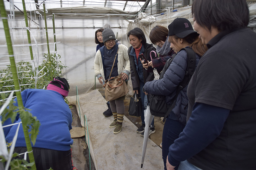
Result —
[{"label": "thickest green bamboo pole, in the left foreground nearest the camera", "polygon": [[[16,67],[15,60],[14,60],[13,46],[12,46],[12,42],[11,42],[11,35],[10,35],[10,31],[9,31],[9,25],[8,25],[8,21],[7,21],[7,14],[6,14],[6,11],[5,11],[5,8],[4,8],[4,1],[3,0],[0,0],[0,11],[1,11],[1,16],[2,16],[3,25],[4,25],[4,32],[5,32],[6,43],[7,43],[7,48],[8,48],[8,53],[9,53],[9,58],[10,58],[10,63],[11,63],[11,70],[12,70],[12,73],[13,73],[14,88],[15,88],[15,90],[17,90],[17,92],[16,92],[17,101],[18,101],[19,107],[20,106],[23,107],[23,102],[22,102],[22,98],[21,98],[21,89],[20,89],[18,73],[17,73],[17,67]],[[35,158],[34,158],[32,146],[31,146],[31,143],[30,143],[29,133],[28,133],[28,130],[26,129],[26,125],[22,124],[22,127],[23,127],[23,131],[24,131],[26,146],[27,146],[27,149],[28,149],[29,161],[30,161],[30,163],[32,163],[32,162],[35,162]],[[31,169],[36,170],[36,164],[34,164],[31,167]]]}]

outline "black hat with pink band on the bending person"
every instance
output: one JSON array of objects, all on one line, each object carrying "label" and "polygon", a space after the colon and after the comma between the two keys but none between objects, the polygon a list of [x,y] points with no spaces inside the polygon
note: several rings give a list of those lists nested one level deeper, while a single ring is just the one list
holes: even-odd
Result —
[{"label": "black hat with pink band on the bending person", "polygon": [[62,96],[68,96],[69,84],[66,78],[55,77],[48,84],[47,90],[53,90],[59,92]]}]

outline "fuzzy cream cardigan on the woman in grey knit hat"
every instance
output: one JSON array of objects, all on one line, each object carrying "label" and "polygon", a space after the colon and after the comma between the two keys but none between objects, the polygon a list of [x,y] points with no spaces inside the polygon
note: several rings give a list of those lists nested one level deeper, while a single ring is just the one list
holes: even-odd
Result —
[{"label": "fuzzy cream cardigan on the woman in grey knit hat", "polygon": [[[128,48],[123,44],[119,44],[118,46],[119,46],[119,50],[117,53],[118,54],[117,55],[117,60],[118,60],[117,72],[118,72],[118,74],[125,72],[129,75],[130,74],[130,60],[129,60],[129,56],[128,56]],[[94,60],[94,72],[95,72],[95,76],[97,78],[102,76],[103,80],[105,80],[100,50],[98,50],[96,52],[96,56],[95,56],[95,60]]]}]

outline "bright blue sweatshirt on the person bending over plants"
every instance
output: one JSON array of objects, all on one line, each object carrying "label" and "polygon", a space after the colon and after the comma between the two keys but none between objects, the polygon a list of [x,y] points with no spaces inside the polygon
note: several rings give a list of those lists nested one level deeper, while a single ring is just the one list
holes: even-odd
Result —
[{"label": "bright blue sweatshirt on the person bending over plants", "polygon": [[[72,113],[65,103],[64,98],[58,92],[43,89],[26,89],[21,92],[23,105],[30,109],[29,112],[40,121],[39,133],[35,146],[32,147],[53,149],[57,151],[68,151],[73,139],[70,136],[72,129]],[[17,98],[14,99],[18,105]],[[17,114],[14,123],[21,122]],[[4,125],[11,124],[11,119],[7,119]],[[6,142],[11,143],[18,125],[3,128]],[[23,128],[19,127],[16,147],[26,147]]]}]

